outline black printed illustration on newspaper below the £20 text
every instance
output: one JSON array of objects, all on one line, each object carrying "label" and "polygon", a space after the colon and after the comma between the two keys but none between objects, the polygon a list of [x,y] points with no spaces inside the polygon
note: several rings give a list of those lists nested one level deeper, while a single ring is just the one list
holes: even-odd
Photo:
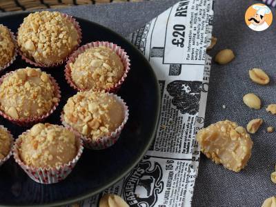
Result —
[{"label": "black printed illustration on newspaper below the \u00a320 text", "polygon": [[172,81],[166,89],[173,97],[172,104],[182,114],[196,115],[199,111],[201,86],[201,81]]}]

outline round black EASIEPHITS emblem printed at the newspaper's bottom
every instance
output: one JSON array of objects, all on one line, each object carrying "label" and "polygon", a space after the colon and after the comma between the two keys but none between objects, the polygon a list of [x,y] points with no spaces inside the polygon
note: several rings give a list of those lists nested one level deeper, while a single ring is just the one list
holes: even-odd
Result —
[{"label": "round black EASIEPHITS emblem printed at the newspaper's bottom", "polygon": [[152,207],[164,189],[160,164],[141,161],[124,181],[124,199],[130,206]]}]

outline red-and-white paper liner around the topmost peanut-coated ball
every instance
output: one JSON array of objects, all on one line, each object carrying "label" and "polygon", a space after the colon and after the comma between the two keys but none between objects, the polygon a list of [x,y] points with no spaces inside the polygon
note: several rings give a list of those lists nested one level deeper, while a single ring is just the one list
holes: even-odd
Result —
[{"label": "red-and-white paper liner around the topmost peanut-coated ball", "polygon": [[[79,23],[76,21],[76,19],[73,18],[72,16],[70,16],[68,14],[63,14],[63,13],[61,13],[61,14],[63,15],[63,17],[65,17],[69,21],[71,21],[71,23],[75,26],[75,28],[77,30],[79,39],[77,40],[77,42],[78,42],[77,46],[75,46],[72,50],[72,52],[74,52],[75,50],[77,50],[77,48],[79,48],[79,44],[81,43],[81,38],[82,38],[81,27],[79,26]],[[20,27],[21,27],[21,25],[19,26],[19,28]],[[17,32],[17,35],[18,35],[18,32]],[[70,57],[70,55],[72,54],[72,52],[71,52],[65,59],[63,59],[63,60],[61,60],[57,63],[46,65],[46,64],[43,64],[43,63],[36,63],[36,62],[32,61],[31,59],[29,59],[28,57],[26,57],[25,55],[23,55],[23,52],[21,52],[19,47],[18,47],[18,52],[19,52],[19,55],[21,56],[21,59],[26,61],[26,63],[30,63],[31,65],[36,66],[36,67],[40,67],[40,68],[53,68],[53,67],[56,67],[56,66],[60,66],[63,63],[65,63],[67,61],[68,57]]]}]

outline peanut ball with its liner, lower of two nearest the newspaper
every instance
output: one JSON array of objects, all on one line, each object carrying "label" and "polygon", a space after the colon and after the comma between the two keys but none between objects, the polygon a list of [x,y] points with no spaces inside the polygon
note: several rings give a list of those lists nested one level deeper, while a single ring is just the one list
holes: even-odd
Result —
[{"label": "peanut ball with its liner, lower of two nearest the newspaper", "polygon": [[128,108],[117,95],[90,90],[70,97],[61,119],[81,135],[88,148],[107,148],[119,138]]}]

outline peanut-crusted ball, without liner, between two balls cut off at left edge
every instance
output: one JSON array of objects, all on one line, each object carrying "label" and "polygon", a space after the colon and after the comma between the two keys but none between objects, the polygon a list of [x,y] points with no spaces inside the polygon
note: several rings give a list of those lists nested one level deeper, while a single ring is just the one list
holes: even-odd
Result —
[{"label": "peanut-crusted ball, without liner, between two balls cut off at left edge", "polygon": [[46,114],[57,101],[49,75],[38,68],[15,70],[0,86],[0,109],[13,119]]}]

